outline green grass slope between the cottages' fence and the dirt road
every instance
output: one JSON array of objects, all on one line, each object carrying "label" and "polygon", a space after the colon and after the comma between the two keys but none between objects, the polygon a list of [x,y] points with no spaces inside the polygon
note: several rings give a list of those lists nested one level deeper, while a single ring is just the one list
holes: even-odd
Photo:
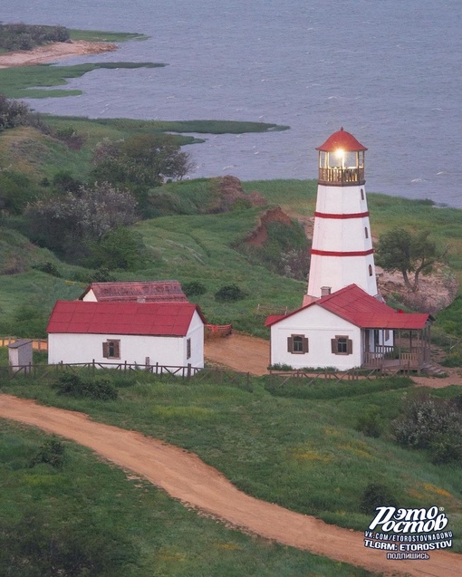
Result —
[{"label": "green grass slope between the cottages' fence and the dirt road", "polygon": [[[354,394],[332,389],[325,399],[300,399],[272,395],[264,378],[253,380],[253,392],[214,384],[213,376],[190,384],[144,373],[114,379],[119,399],[107,402],[58,397],[42,381],[4,381],[2,389],[164,439],[197,453],[249,495],[360,531],[370,522],[359,510],[362,492],[380,483],[399,506],[444,506],[462,551],[459,466],[432,465],[424,451],[389,438],[409,380],[360,381]],[[331,390],[330,382],[324,387]],[[380,438],[355,429],[371,406],[380,407]]]}]

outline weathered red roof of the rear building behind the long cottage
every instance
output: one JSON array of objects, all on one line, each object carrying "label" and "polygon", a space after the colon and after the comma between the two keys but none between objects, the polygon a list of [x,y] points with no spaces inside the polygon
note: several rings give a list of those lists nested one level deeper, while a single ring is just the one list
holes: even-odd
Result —
[{"label": "weathered red roof of the rear building behind the long cottage", "polygon": [[188,303],[178,281],[128,281],[119,283],[91,283],[79,297],[93,291],[97,301],[136,301],[146,303]]}]

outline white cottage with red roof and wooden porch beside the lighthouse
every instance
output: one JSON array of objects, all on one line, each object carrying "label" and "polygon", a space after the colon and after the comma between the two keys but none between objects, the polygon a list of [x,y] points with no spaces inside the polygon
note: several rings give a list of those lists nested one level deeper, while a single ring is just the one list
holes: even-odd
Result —
[{"label": "white cottage with red roof and wooden porch beside the lighthouse", "polygon": [[429,360],[427,313],[399,313],[356,284],[286,315],[273,315],[270,362],[294,369],[419,369]]}]

